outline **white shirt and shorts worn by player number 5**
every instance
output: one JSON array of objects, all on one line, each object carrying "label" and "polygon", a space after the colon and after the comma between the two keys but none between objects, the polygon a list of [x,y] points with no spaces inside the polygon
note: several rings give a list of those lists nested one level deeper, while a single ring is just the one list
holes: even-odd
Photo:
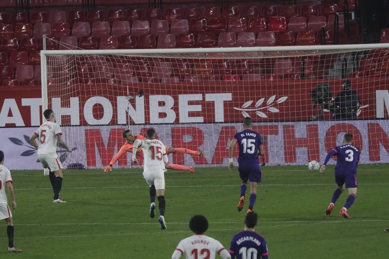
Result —
[{"label": "white shirt and shorts worn by player number 5", "polygon": [[57,155],[57,136],[62,135],[60,125],[47,121],[40,125],[35,131],[38,140],[38,159],[42,163],[43,168],[49,168],[51,172],[62,168],[61,162]]}]

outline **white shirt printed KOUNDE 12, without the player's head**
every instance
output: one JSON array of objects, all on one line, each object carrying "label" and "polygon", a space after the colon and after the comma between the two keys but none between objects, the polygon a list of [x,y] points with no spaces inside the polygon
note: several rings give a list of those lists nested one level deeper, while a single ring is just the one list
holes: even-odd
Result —
[{"label": "white shirt printed KOUNDE 12, without the player's head", "polygon": [[[223,258],[231,258],[230,254],[225,250],[224,246],[216,239],[206,235],[193,235],[189,236],[178,243],[175,249],[182,254],[185,254],[186,259],[215,259],[216,253],[220,254],[223,250]],[[173,254],[172,258],[177,258]],[[225,254],[225,255],[224,255]]]}]

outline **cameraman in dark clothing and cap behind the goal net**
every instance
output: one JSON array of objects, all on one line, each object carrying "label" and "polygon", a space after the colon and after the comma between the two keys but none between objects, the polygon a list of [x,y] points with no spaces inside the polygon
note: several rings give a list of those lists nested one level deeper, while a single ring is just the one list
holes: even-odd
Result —
[{"label": "cameraman in dark clothing and cap behind the goal net", "polygon": [[350,80],[345,80],[341,86],[343,91],[338,93],[333,102],[329,102],[332,118],[334,120],[355,120],[358,107],[361,106],[358,94],[351,89]]}]

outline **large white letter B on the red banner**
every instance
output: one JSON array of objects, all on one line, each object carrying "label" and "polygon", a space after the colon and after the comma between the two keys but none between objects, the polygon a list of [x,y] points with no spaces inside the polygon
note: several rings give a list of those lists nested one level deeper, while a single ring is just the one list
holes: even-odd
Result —
[{"label": "large white letter B on the red banner", "polygon": [[[169,95],[152,95],[149,96],[150,104],[150,123],[173,123],[176,115],[173,111],[174,99]],[[163,102],[159,106],[158,102]],[[159,113],[166,113],[165,117],[159,118]]]}]

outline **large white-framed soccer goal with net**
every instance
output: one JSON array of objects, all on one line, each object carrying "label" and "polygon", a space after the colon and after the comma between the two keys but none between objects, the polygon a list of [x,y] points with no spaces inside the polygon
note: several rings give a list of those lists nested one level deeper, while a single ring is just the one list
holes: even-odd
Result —
[{"label": "large white-framed soccer goal with net", "polygon": [[149,127],[166,146],[204,153],[170,162],[226,166],[246,116],[264,136],[266,165],[322,162],[346,132],[360,163],[389,162],[389,44],[44,50],[41,64],[42,107],[76,149],[65,167],[105,167],[124,130]]}]

